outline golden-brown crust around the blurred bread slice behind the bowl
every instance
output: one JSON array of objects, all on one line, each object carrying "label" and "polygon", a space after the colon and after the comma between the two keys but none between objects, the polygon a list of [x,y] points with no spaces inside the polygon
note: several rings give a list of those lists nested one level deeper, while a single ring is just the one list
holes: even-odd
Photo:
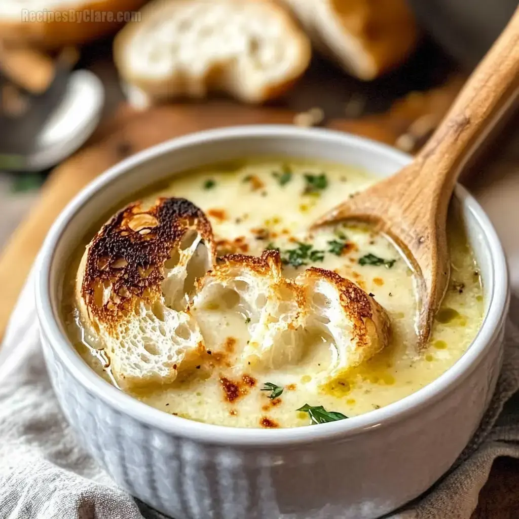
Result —
[{"label": "golden-brown crust around the blurred bread slice behind the bowl", "polygon": [[[130,42],[133,35],[142,30],[142,24],[146,23],[146,18],[158,17],[157,13],[160,11],[169,12],[171,9],[179,9],[182,3],[188,3],[196,0],[182,0],[181,2],[175,2],[170,0],[169,2],[151,2],[145,5],[141,9],[142,20],[140,23],[130,22],[119,31],[114,38],[113,44],[113,55],[114,63],[119,71],[121,78],[125,83],[131,87],[136,87],[144,92],[150,99],[149,101],[160,102],[168,98],[179,97],[186,95],[184,91],[184,81],[177,80],[176,73],[172,73],[169,77],[163,77],[160,79],[150,79],[139,74],[135,74],[125,58],[125,47]],[[291,37],[296,40],[299,48],[299,60],[297,63],[293,63],[291,70],[293,71],[288,77],[279,83],[272,83],[262,92],[258,92],[256,99],[242,99],[245,102],[251,103],[263,103],[270,99],[280,97],[286,91],[296,83],[296,81],[303,75],[308,68],[311,58],[311,44],[307,35],[299,28],[295,20],[292,19],[290,14],[281,6],[269,0],[239,0],[234,2],[239,8],[240,2],[262,2],[266,9],[272,11],[272,15],[281,18],[282,22],[286,26],[285,34],[287,37]],[[232,0],[231,2],[232,3]],[[168,15],[165,15],[168,16]],[[216,69],[219,65],[216,64]],[[221,65],[220,65],[221,66]],[[202,78],[204,85],[207,85],[208,90],[211,90],[214,85],[211,84],[211,79],[217,78],[218,75],[214,74],[213,70],[208,70],[206,76]],[[233,93],[233,92],[229,92]]]}]

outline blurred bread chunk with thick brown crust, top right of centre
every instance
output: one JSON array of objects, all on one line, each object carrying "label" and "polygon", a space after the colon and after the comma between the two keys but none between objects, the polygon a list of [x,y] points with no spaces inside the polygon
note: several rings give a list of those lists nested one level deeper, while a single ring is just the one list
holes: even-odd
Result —
[{"label": "blurred bread chunk with thick brown crust, top right of centre", "polygon": [[312,43],[360,79],[374,79],[415,48],[417,28],[405,0],[280,0]]}]

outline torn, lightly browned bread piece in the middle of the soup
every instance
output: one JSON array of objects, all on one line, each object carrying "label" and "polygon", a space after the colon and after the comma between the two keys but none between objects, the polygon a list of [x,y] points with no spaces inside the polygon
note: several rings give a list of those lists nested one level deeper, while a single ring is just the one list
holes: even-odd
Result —
[{"label": "torn, lightly browned bread piece in the middle of the soup", "polygon": [[249,316],[251,337],[242,353],[243,365],[277,369],[295,364],[309,336],[326,337],[336,353],[318,377],[325,383],[372,358],[389,342],[389,317],[373,297],[321,268],[308,268],[295,280],[285,279],[278,251],[261,257],[225,256],[197,284],[193,303],[197,319],[203,319],[203,307],[217,301],[223,290],[240,296],[240,311]]}]

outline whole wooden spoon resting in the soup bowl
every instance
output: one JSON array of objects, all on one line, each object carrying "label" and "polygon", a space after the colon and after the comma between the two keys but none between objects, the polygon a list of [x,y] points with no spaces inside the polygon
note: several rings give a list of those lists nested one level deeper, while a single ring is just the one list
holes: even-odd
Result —
[{"label": "whole wooden spoon resting in the soup bowl", "polygon": [[321,217],[371,222],[395,240],[420,280],[419,346],[449,280],[447,208],[458,176],[519,93],[519,8],[413,162]]}]

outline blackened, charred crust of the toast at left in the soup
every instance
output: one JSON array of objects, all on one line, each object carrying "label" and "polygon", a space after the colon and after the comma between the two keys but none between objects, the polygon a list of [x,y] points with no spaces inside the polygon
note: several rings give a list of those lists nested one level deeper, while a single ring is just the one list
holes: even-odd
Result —
[{"label": "blackened, charred crust of the toast at left in the soup", "polygon": [[91,240],[78,269],[76,298],[82,317],[114,331],[136,304],[153,305],[161,295],[171,249],[190,228],[200,233],[213,259],[211,224],[184,198],[160,198],[146,209],[133,202],[116,213]]}]

